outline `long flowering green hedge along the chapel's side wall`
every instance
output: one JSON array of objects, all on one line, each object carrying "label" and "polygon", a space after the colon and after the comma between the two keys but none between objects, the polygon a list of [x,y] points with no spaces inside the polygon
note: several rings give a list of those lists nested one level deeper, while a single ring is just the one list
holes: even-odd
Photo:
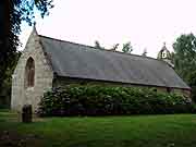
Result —
[{"label": "long flowering green hedge along the chapel's side wall", "polygon": [[45,93],[37,112],[41,117],[192,113],[195,105],[183,95],[147,88],[68,86]]}]

